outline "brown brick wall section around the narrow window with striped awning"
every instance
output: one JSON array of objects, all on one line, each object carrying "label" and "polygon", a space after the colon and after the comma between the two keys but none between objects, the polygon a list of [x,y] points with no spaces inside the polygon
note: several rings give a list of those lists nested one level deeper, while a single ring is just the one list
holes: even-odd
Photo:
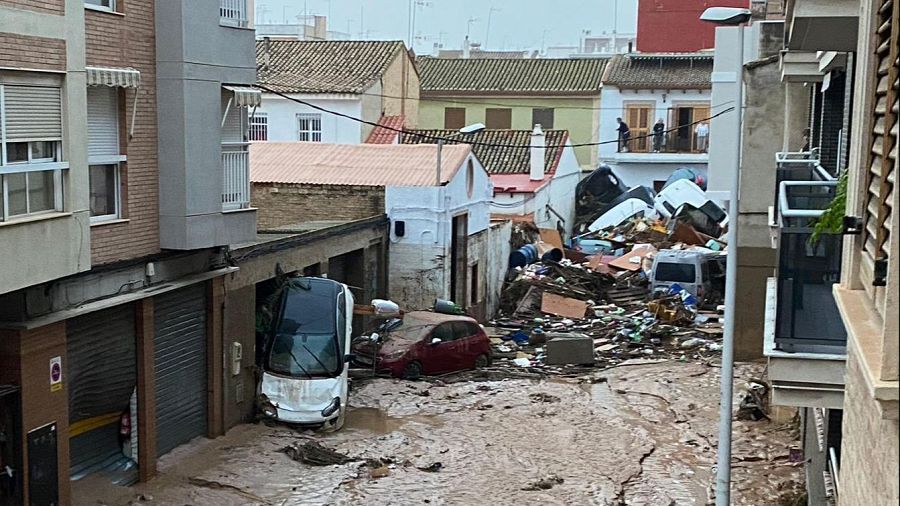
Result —
[{"label": "brown brick wall section around the narrow window with striped awning", "polygon": [[[85,52],[91,66],[132,67],[141,87],[120,92],[122,217],[127,222],[91,227],[93,265],[139,258],[159,251],[159,169],[157,163],[156,38],[150,0],[129,0],[118,14],[85,11]],[[135,114],[136,113],[136,114]],[[132,115],[134,137],[128,139]]]}]

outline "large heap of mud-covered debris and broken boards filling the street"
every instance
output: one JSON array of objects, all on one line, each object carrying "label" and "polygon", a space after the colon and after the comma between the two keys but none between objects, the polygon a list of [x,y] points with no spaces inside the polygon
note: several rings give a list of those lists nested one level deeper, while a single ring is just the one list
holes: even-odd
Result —
[{"label": "large heap of mud-covered debris and broken boards filling the street", "polygon": [[[674,228],[636,217],[576,238],[559,261],[535,258],[511,268],[500,312],[488,327],[497,363],[548,370],[634,358],[706,360],[717,354],[724,247],[678,216]],[[684,227],[691,227],[696,241],[675,240]],[[543,230],[541,237],[546,238]],[[709,241],[718,246],[708,248]],[[575,248],[582,254],[573,254]],[[666,262],[672,257],[676,275],[702,271],[709,279],[662,282],[663,276],[654,276],[658,257]],[[716,278],[717,273],[722,275]]]}]

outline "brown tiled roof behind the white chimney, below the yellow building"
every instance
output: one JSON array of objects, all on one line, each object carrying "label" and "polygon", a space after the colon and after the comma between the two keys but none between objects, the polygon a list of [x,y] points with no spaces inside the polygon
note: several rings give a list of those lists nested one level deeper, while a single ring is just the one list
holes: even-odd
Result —
[{"label": "brown tiled roof behind the white chimney, below the yellow building", "polygon": [[[449,137],[457,134],[456,130],[410,130],[432,137]],[[569,139],[567,130],[545,130],[544,144],[547,146],[544,156],[544,173],[553,174],[559,165],[562,148]],[[529,157],[531,151],[525,148],[502,147],[501,145],[528,146],[531,144],[531,130],[482,130],[467,135],[466,141],[494,144],[495,146],[472,145],[472,151],[488,174],[527,174],[530,170]],[[402,144],[434,143],[433,139],[416,135],[401,135]],[[454,141],[445,141],[445,149]]]}]

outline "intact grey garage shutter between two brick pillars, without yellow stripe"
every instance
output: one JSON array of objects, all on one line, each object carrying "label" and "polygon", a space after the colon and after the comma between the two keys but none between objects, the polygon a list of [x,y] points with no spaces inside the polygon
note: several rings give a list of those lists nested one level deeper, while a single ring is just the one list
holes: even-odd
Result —
[{"label": "intact grey garage shutter between two brick pillars, without yellow stripe", "polygon": [[168,453],[206,434],[206,286],[154,300],[156,450]]}]

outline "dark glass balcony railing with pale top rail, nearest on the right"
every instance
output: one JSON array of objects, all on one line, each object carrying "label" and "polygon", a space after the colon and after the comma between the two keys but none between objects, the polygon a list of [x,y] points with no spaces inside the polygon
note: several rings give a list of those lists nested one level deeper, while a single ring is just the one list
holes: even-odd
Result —
[{"label": "dark glass balcony railing with pale top rail, nearest on the right", "polygon": [[847,332],[832,295],[840,281],[842,236],[813,240],[815,220],[834,199],[835,181],[782,181],[778,197],[776,348],[842,353]]}]

